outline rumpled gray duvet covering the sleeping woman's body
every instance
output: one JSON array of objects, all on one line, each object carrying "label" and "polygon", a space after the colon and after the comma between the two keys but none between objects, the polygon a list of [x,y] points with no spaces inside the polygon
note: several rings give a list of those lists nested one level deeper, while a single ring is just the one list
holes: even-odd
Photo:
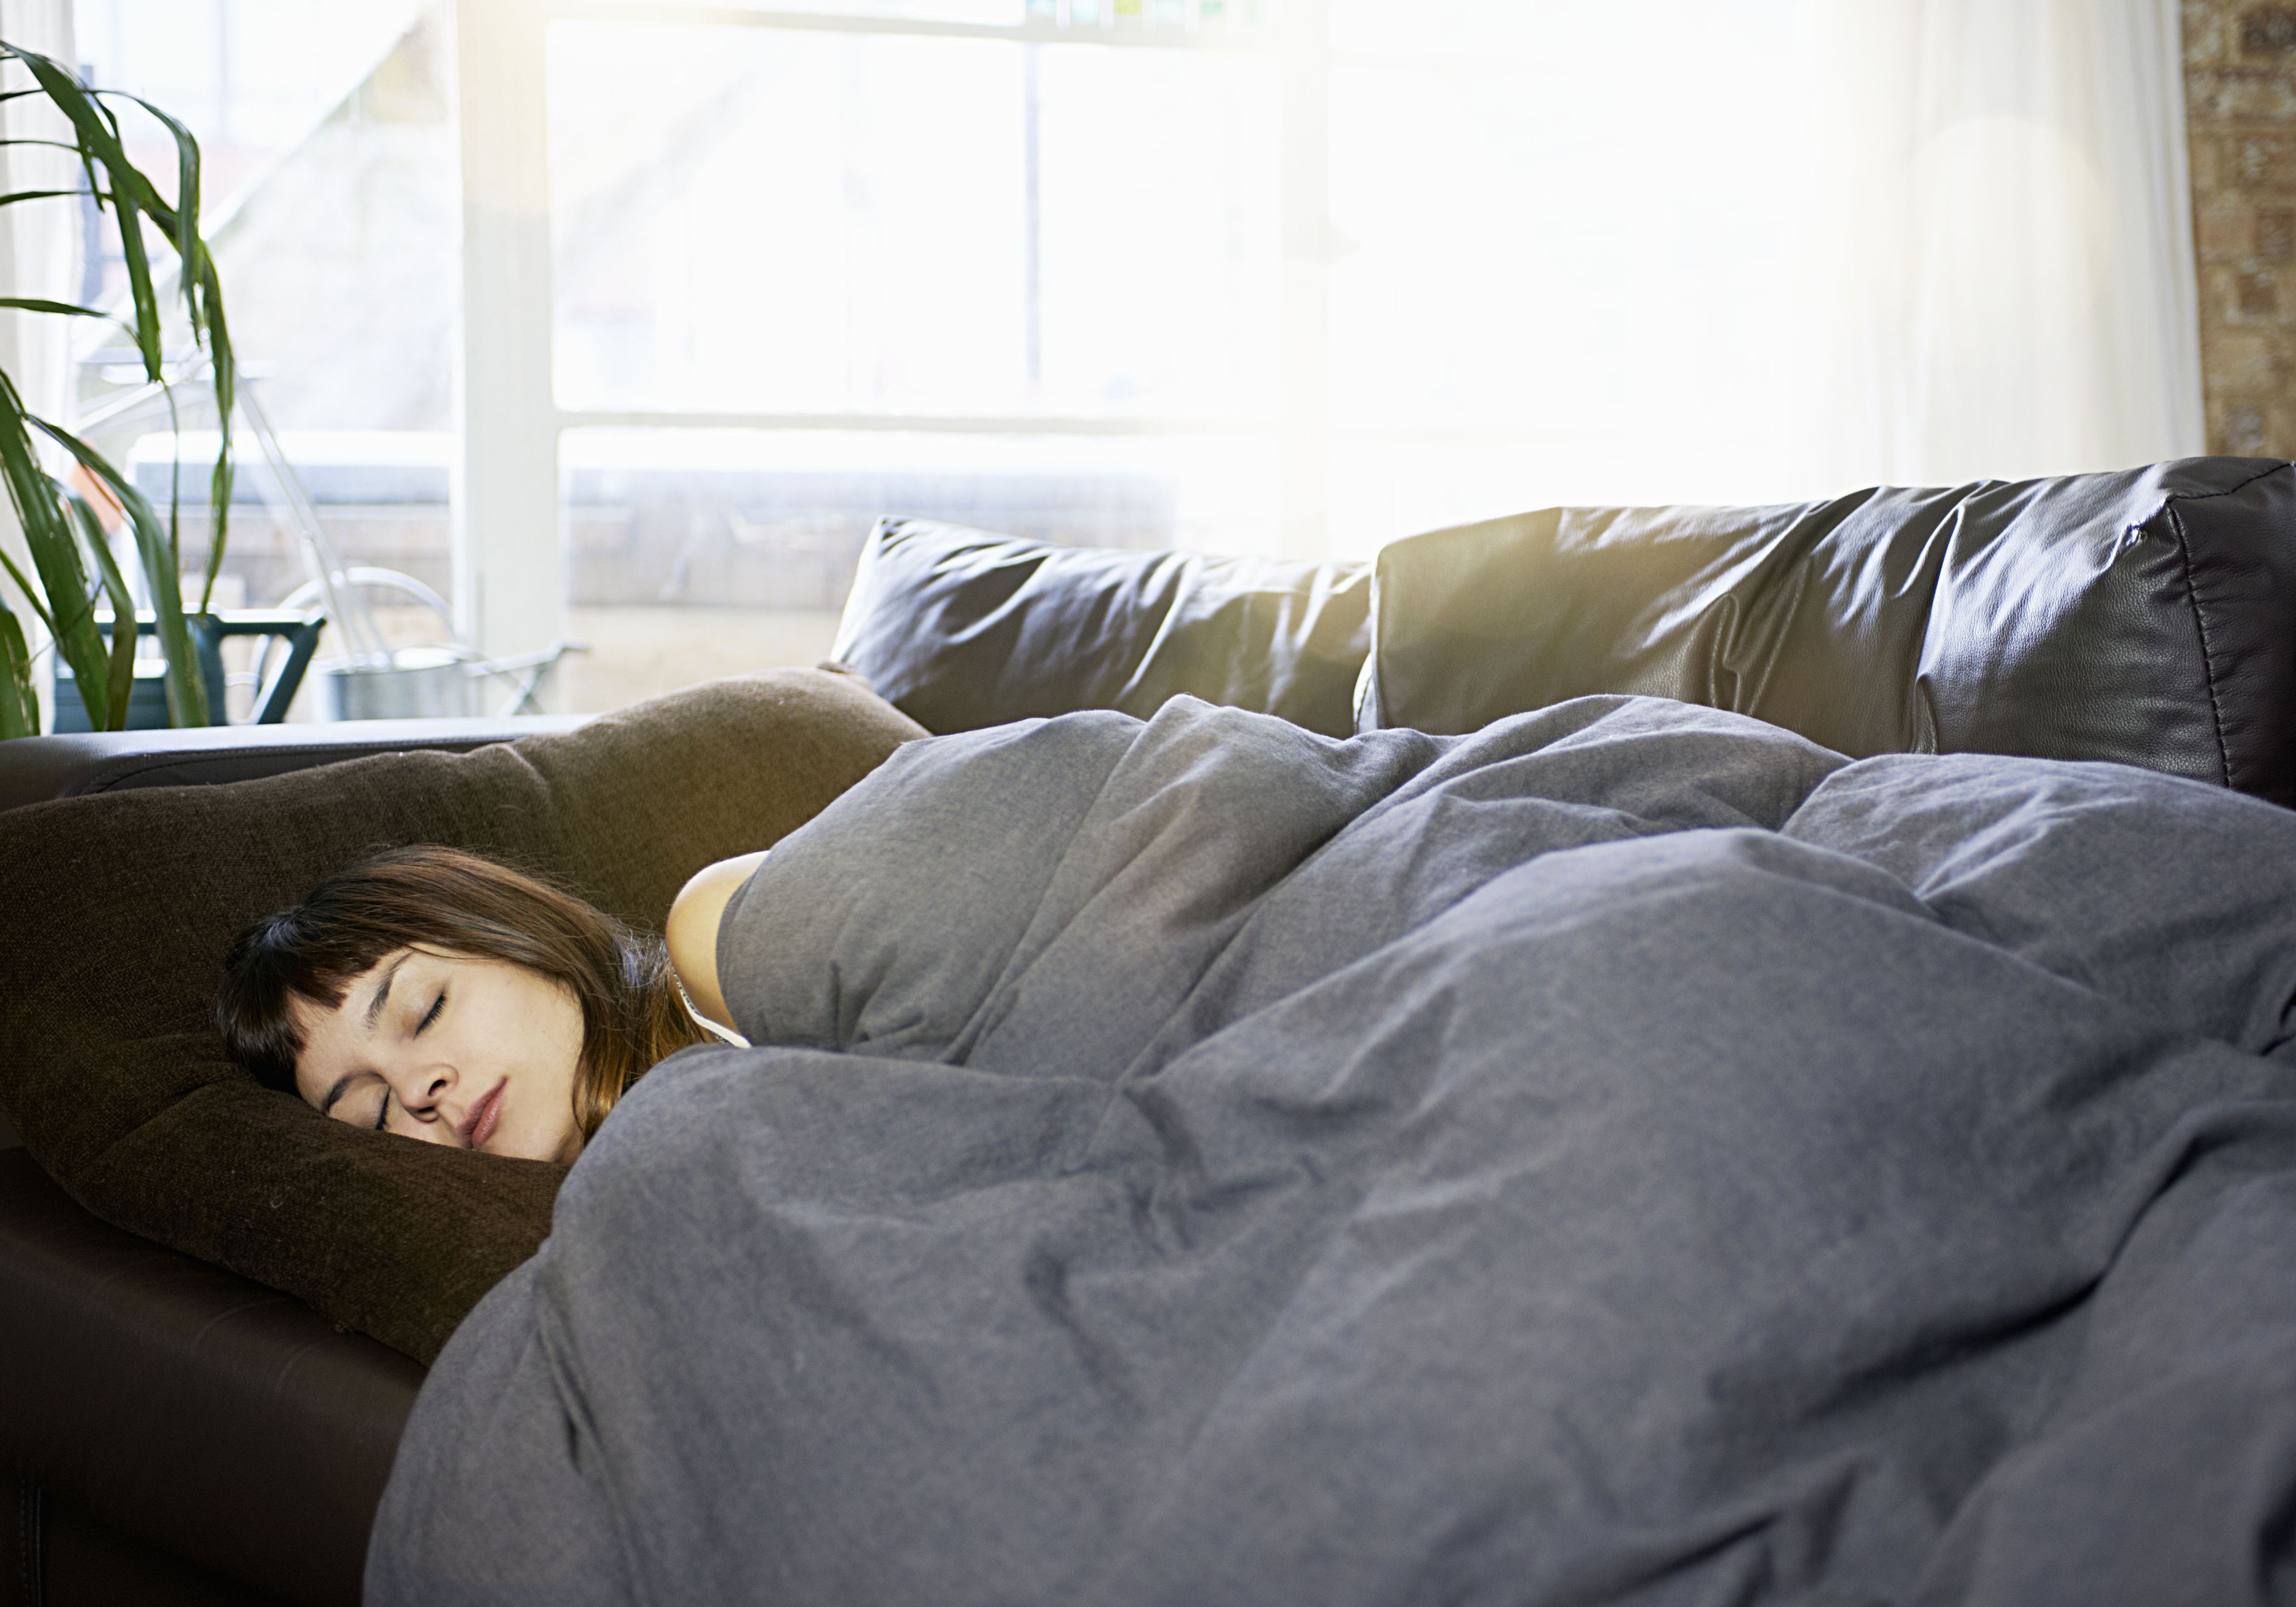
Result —
[{"label": "rumpled gray duvet covering the sleeping woman's body", "polygon": [[2296,1600],[2296,813],[1587,698],[902,748],[372,1602]]}]

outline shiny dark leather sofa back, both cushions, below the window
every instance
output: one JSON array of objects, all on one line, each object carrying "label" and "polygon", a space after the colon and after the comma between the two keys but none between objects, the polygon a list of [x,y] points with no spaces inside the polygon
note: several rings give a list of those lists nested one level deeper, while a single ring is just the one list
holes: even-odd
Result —
[{"label": "shiny dark leather sofa back, both cushions, below the window", "polygon": [[1632,691],[1851,755],[2119,760],[2296,804],[2296,466],[1561,507],[1375,565],[886,519],[836,652],[930,730],[1192,693],[1460,732]]}]

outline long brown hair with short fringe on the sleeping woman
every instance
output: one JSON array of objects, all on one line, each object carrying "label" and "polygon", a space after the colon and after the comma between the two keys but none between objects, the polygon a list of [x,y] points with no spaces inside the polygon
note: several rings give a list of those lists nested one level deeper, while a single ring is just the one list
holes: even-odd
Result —
[{"label": "long brown hair with short fringe on the sleeping woman", "polygon": [[294,1001],[333,1010],[354,978],[397,948],[505,960],[574,994],[583,1028],[574,1120],[585,1139],[654,1061],[707,1042],[661,939],[540,877],[425,845],[340,870],[232,941],[216,992],[232,1058],[292,1093],[303,1054]]}]

